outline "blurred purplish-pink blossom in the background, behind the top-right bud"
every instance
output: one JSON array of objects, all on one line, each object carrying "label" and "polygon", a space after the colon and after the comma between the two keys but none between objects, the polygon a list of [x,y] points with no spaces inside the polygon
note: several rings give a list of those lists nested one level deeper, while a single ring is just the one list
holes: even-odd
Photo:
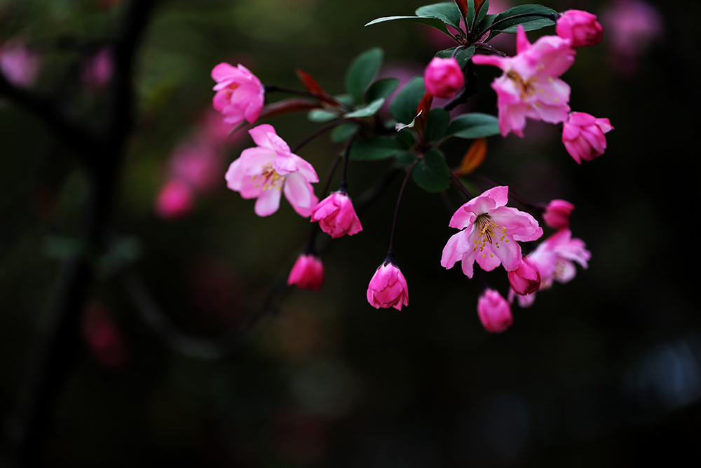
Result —
[{"label": "blurred purplish-pink blossom in the background, behind the top-right bud", "polygon": [[665,35],[662,14],[644,0],[615,0],[601,13],[613,69],[633,76],[641,56]]}]

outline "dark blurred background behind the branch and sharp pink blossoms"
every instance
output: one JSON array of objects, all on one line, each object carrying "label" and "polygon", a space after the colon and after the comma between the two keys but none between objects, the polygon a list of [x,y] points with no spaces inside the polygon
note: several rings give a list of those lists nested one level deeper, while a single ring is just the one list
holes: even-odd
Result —
[{"label": "dark blurred background behind the branch and sharp pink blossoms", "polygon": [[[97,125],[110,40],[128,3],[0,1],[8,81]],[[301,88],[301,68],[342,93],[348,63],[381,46],[382,73],[407,79],[450,44],[413,23],[363,25],[423,3],[156,3],[135,55],[137,108],[117,175],[111,248],[91,254],[97,276],[72,323],[81,352],[50,410],[44,465],[701,462],[701,256],[690,238],[701,201],[696,2],[546,2],[599,15],[604,41],[578,49],[563,78],[573,110],[608,117],[615,130],[606,154],[582,166],[557,126],[530,121],[523,140],[489,138],[479,172],[531,201],[575,203],[573,236],[592,252],[571,283],[539,293],[529,309],[515,306],[505,333],[479,323],[478,281],[440,266],[455,232],[451,212],[413,183],[395,239],[409,306],[368,305],[400,178],[361,213],[362,233],[322,252],[320,291],[284,286],[309,223],[286,201],[258,218],[253,201],[226,189],[226,166],[252,141],[243,131],[226,138],[230,129],[211,109],[210,71],[242,63],[264,83]],[[553,31],[529,33],[531,41],[539,34]],[[503,36],[494,44],[512,53],[514,36]],[[492,68],[478,68],[479,93],[465,111],[496,114]],[[318,127],[302,114],[269,123],[290,146]],[[11,433],[60,292],[61,262],[89,250],[76,236],[88,182],[60,138],[13,100],[0,102],[0,141],[0,417]],[[445,145],[451,166],[468,145]],[[338,148],[322,135],[299,154],[323,175]],[[351,194],[389,166],[352,163]],[[506,293],[503,271],[486,279]],[[243,337],[231,333],[275,284],[283,286],[272,314]]]}]

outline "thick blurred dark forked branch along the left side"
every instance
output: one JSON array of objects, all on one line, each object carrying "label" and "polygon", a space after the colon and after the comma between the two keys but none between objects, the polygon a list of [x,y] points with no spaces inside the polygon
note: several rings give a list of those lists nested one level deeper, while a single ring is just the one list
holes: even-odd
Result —
[{"label": "thick blurred dark forked branch along the left side", "polygon": [[[132,75],[135,53],[156,0],[132,0],[125,8],[114,41],[115,72],[111,105],[104,131],[92,136],[86,126],[71,123],[53,102],[0,79],[0,93],[36,114],[86,163],[88,203],[83,212],[81,239],[104,247],[105,230],[114,205],[126,138],[134,119]],[[85,125],[90,116],[85,116]],[[6,424],[4,466],[36,466],[50,434],[56,402],[83,349],[79,317],[93,281],[94,267],[85,258],[64,262],[48,327],[38,338],[27,366],[20,403]]]}]

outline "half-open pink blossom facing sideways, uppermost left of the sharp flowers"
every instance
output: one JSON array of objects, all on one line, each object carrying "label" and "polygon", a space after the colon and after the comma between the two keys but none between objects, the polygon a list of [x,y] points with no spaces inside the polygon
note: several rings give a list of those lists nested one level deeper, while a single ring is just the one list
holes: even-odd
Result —
[{"label": "half-open pink blossom facing sideways, uppermost left of the sharp flowers", "polygon": [[217,81],[212,101],[215,109],[226,116],[226,123],[247,120],[254,123],[263,109],[265,88],[257,76],[241,64],[234,68],[228,63],[220,63],[212,69],[212,79]]}]

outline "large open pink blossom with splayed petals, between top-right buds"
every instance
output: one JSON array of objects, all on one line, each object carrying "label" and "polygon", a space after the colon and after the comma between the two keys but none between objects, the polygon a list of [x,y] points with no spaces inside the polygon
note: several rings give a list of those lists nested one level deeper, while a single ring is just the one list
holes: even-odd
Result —
[{"label": "large open pink blossom with splayed petals, between top-right buds", "polygon": [[569,39],[543,36],[531,45],[522,26],[516,35],[515,57],[475,55],[472,62],[494,65],[504,74],[491,87],[497,94],[499,129],[523,137],[526,117],[558,123],[569,113],[570,87],[558,78],[574,62],[576,52]]}]

